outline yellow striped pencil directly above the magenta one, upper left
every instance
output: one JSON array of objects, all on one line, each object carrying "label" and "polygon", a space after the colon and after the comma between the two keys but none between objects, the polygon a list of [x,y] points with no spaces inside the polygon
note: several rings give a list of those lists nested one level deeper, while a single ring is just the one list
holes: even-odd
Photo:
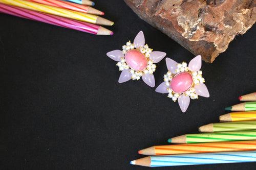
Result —
[{"label": "yellow striped pencil directly above the magenta one, upper left", "polygon": [[76,19],[80,21],[96,23],[98,25],[112,26],[114,24],[114,22],[104,19],[100,16],[62,9],[58,7],[51,7],[48,5],[32,3],[23,0],[0,0],[0,3],[25,8],[29,10],[34,10],[38,12],[44,12],[52,15],[62,16],[66,18]]}]

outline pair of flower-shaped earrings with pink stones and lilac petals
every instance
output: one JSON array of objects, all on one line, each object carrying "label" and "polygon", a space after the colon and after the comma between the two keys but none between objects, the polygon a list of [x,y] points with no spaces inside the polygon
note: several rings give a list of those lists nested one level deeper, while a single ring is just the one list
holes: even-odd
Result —
[{"label": "pair of flower-shaped earrings with pink stones and lilac petals", "polygon": [[[126,42],[121,50],[114,50],[106,54],[111,59],[117,61],[119,70],[122,71],[118,82],[123,83],[129,80],[142,80],[151,87],[155,87],[156,64],[161,61],[166,53],[153,51],[145,44],[142,31],[135,37],[133,43]],[[198,99],[198,96],[209,97],[209,92],[202,77],[201,56],[196,56],[188,65],[185,62],[166,58],[167,73],[163,76],[162,82],[156,92],[168,93],[168,98],[174,102],[178,100],[180,109],[185,112],[189,106],[190,99]]]}]

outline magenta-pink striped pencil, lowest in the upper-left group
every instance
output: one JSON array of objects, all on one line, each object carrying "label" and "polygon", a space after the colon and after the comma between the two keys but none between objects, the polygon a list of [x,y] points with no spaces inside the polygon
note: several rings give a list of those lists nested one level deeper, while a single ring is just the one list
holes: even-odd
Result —
[{"label": "magenta-pink striped pencil, lowest in the upper-left group", "polygon": [[91,34],[113,35],[112,31],[107,30],[101,26],[93,25],[91,23],[71,20],[68,18],[62,18],[55,15],[44,14],[44,13],[31,11],[23,8],[18,8],[18,7],[12,7],[4,4],[0,4],[0,12],[22,17],[22,18],[46,22],[46,23],[50,23],[51,25],[65,27],[65,28],[87,32]]}]

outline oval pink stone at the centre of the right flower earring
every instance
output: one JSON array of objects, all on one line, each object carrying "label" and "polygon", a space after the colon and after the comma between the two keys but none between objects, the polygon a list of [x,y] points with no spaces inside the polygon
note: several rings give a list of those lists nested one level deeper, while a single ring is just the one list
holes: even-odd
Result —
[{"label": "oval pink stone at the centre of the right flower earring", "polygon": [[182,93],[188,90],[192,83],[192,76],[188,72],[181,72],[173,78],[172,82],[170,82],[170,88],[176,93]]}]

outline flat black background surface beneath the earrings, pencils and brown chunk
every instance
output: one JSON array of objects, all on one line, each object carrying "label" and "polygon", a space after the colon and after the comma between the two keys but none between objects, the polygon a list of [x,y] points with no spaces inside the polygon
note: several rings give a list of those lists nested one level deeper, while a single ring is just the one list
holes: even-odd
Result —
[{"label": "flat black background surface beneath the earrings, pencils and brown chunk", "polygon": [[[95,1],[115,21],[114,36],[95,36],[0,14],[1,169],[146,169],[137,151],[167,144],[218,122],[226,106],[255,91],[256,29],[234,39],[213,64],[202,64],[210,98],[186,113],[142,80],[118,83],[106,52],[142,30],[146,43],[177,62],[193,54],[137,17],[123,1]],[[156,86],[166,72],[157,64]],[[159,169],[253,169],[256,163]]]}]

